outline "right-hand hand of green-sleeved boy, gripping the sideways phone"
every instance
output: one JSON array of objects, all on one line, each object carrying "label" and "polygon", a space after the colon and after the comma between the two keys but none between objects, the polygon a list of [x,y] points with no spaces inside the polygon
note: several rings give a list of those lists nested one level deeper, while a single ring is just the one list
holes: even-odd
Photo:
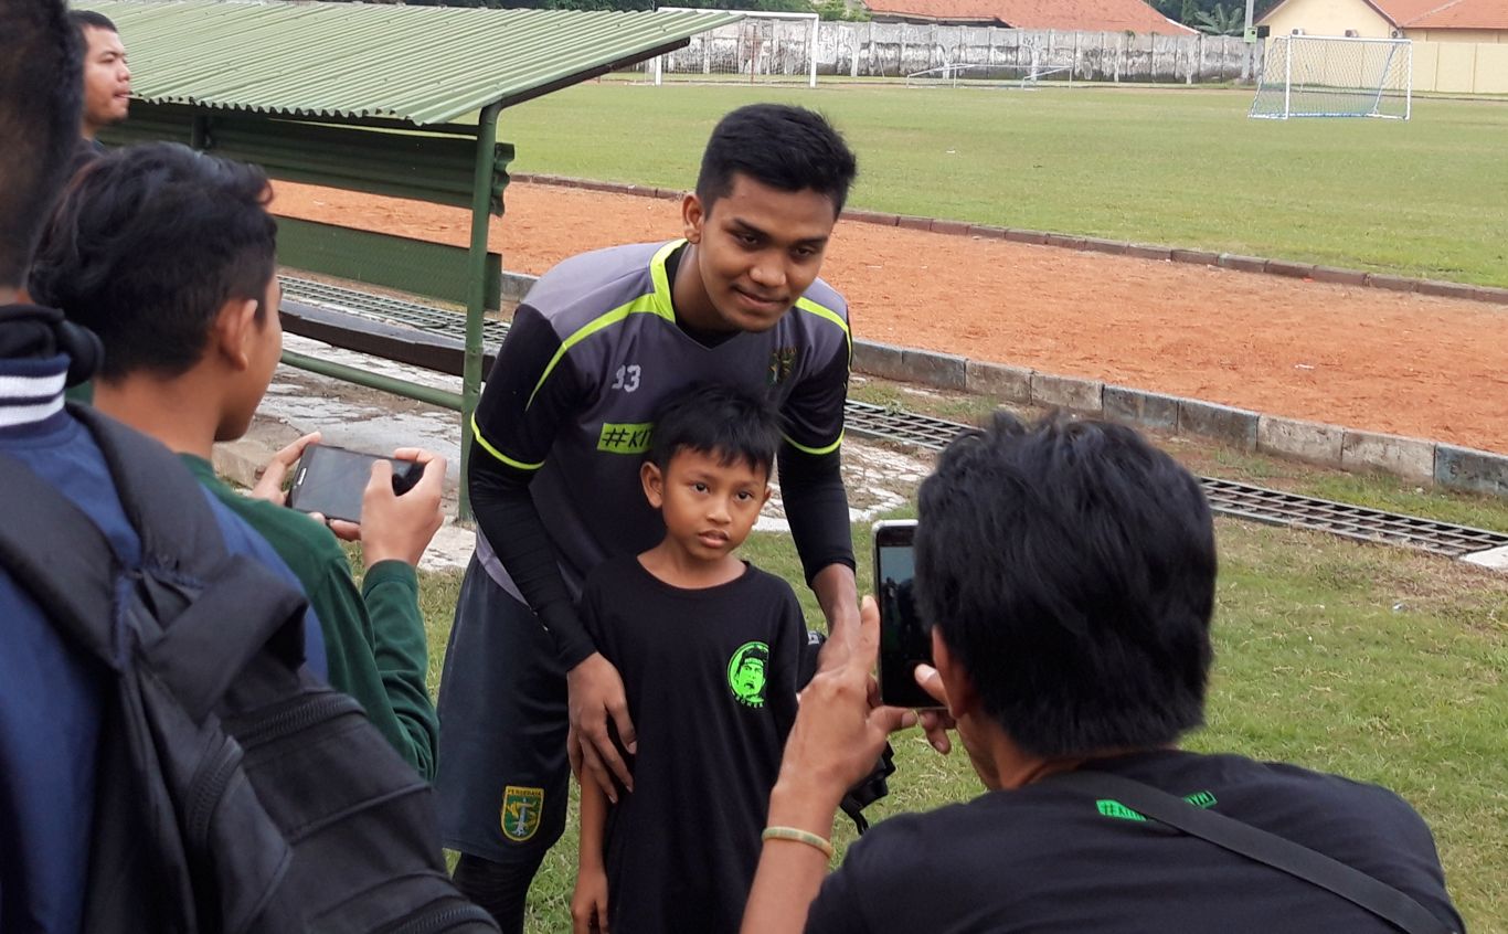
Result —
[{"label": "right-hand hand of green-sleeved boy, gripping the sideways phone", "polygon": [[445,524],[440,495],[445,490],[445,459],[422,448],[400,448],[397,460],[424,465],[424,474],[413,487],[400,495],[392,492],[392,465],[379,460],[362,493],[362,561],[371,567],[379,561],[398,560],[418,566],[434,533]]}]

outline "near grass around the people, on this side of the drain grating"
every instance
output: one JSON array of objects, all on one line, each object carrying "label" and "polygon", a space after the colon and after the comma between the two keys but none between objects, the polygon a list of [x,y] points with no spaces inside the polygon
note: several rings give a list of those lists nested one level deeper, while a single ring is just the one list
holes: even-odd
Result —
[{"label": "near grass around the people, on this side of the drain grating", "polygon": [[[964,413],[959,413],[962,418]],[[1206,457],[1194,453],[1196,459]],[[1196,469],[1205,469],[1202,463]],[[1243,478],[1288,466],[1231,465]],[[1398,496],[1398,481],[1347,481],[1362,502]],[[1475,510],[1508,528],[1508,504],[1419,493],[1416,512]],[[1383,548],[1221,521],[1215,673],[1208,726],[1187,745],[1283,759],[1383,783],[1430,822],[1452,896],[1475,932],[1508,932],[1508,579]],[[869,530],[855,525],[860,579]],[[789,537],[754,536],[745,554],[799,581]],[[439,684],[460,573],[422,579],[431,690]],[[798,587],[807,619],[820,614]],[[891,797],[872,816],[924,810],[979,794],[964,756],[935,754],[917,733],[894,741]],[[572,818],[575,821],[575,816]],[[840,824],[838,843],[852,840]],[[535,880],[528,929],[569,928],[575,828]]]}]

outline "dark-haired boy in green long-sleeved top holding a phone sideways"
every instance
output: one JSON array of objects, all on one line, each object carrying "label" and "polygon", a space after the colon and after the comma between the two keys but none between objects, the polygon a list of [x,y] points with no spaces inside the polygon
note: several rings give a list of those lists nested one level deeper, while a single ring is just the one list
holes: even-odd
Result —
[{"label": "dark-haired boy in green long-sleeved top holding a phone sideways", "polygon": [[[237,493],[210,465],[214,442],[246,433],[282,350],[270,198],[256,166],[175,143],[110,152],[59,205],[33,263],[32,293],[100,335],[106,355],[93,404],[176,451],[288,563],[320,617],[330,685],[360,702],[404,760],[431,779],[439,724],[425,685],[416,566],[443,522],[445,460],[403,451],[424,474],[401,496],[392,465],[377,462],[362,522],[350,530],[366,566],[360,587],[330,528]],[[309,441],[274,463],[291,465]]]}]

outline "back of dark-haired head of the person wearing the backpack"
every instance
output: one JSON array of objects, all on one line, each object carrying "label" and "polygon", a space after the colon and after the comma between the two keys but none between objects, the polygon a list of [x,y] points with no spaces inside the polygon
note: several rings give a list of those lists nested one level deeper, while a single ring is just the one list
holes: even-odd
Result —
[{"label": "back of dark-haired head of the person wearing the backpack", "polygon": [[83,45],[60,0],[0,3],[0,285],[18,288],[78,143]]}]

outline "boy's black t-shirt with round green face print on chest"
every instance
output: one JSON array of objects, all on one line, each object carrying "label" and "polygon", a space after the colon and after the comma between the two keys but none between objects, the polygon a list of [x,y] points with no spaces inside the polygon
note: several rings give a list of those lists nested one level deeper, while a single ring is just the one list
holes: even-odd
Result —
[{"label": "boy's black t-shirt with round green face print on chest", "polygon": [[734,932],[796,717],[796,595],[752,566],[683,590],[626,555],[588,576],[581,616],[623,676],[638,732],[633,792],[605,834],[609,926]]}]

